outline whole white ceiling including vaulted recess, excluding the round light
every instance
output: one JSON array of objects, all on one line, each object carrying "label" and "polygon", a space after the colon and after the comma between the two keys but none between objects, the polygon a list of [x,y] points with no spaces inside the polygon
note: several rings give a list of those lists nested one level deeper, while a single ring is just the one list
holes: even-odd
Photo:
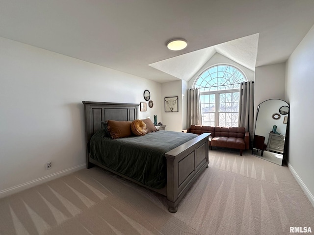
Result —
[{"label": "whole white ceiling including vaulted recess, excluding the round light", "polygon": [[[188,81],[218,52],[284,62],[314,24],[314,0],[1,0],[0,36],[136,76]],[[165,44],[180,37],[182,51]]]}]

